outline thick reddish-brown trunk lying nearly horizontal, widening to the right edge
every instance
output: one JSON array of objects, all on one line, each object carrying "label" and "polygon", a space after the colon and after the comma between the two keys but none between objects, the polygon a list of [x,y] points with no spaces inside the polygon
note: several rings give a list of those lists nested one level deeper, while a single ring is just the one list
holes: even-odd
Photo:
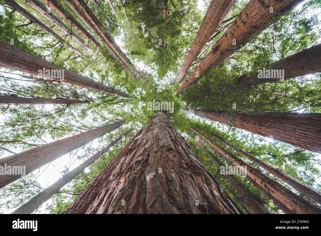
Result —
[{"label": "thick reddish-brown trunk lying nearly horizontal, widening to the right edge", "polygon": [[321,113],[189,110],[198,116],[321,153]]}]

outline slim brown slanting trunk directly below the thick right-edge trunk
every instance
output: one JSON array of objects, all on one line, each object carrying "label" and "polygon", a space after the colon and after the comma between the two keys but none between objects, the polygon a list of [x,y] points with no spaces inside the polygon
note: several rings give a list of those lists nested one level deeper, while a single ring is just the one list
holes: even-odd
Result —
[{"label": "slim brown slanting trunk directly below the thick right-edge trunk", "polygon": [[[196,131],[192,127],[189,127],[189,128],[191,130],[193,130],[195,133],[198,133],[202,138],[204,137],[204,135],[202,135],[201,133],[199,133],[198,131]],[[315,201],[317,203],[321,203],[321,192],[319,190],[312,188],[311,186],[302,182],[301,180],[293,178],[291,175],[274,168],[270,164],[267,164],[267,163],[261,161],[260,159],[257,159],[255,156],[252,156],[251,154],[238,149],[237,147],[229,144],[228,142],[224,141],[223,139],[221,139],[215,135],[213,135],[213,137],[216,138],[217,140],[221,141],[223,144],[230,147],[234,151],[237,151],[238,153],[240,153],[242,156],[244,156],[245,158],[247,158],[251,162],[253,162],[253,163],[257,164],[258,166],[262,167],[263,169],[269,171],[271,174],[273,174],[277,178],[283,180],[285,183],[291,185],[293,188],[297,189],[299,192],[307,195],[313,201]]]}]

